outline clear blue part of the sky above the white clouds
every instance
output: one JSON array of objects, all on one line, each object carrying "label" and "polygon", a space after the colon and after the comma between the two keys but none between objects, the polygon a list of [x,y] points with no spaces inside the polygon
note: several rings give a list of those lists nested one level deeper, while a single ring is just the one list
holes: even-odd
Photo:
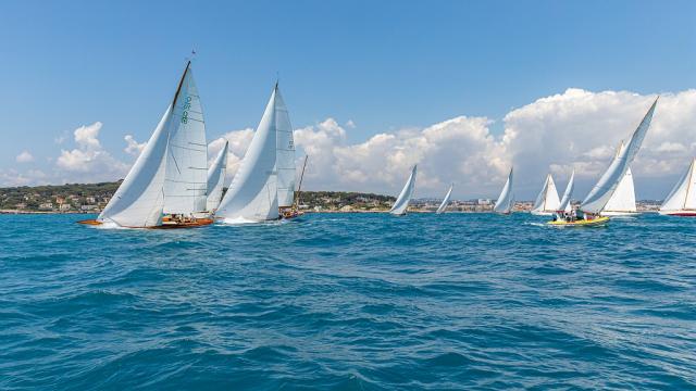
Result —
[{"label": "clear blue part of the sky above the white clouds", "polygon": [[276,74],[296,127],[350,119],[349,142],[459,115],[497,135],[512,109],[571,87],[696,85],[693,1],[12,1],[0,33],[1,169],[23,150],[41,168],[95,122],[125,159],[191,48],[211,138],[256,126]]}]

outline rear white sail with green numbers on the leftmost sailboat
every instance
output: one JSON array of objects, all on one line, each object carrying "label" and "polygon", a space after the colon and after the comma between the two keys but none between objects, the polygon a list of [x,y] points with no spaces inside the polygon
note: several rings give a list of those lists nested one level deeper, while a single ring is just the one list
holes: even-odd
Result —
[{"label": "rear white sail with green numbers on the leftmost sailboat", "polygon": [[206,211],[207,176],[206,123],[189,62],[170,119],[163,212],[191,214]]}]

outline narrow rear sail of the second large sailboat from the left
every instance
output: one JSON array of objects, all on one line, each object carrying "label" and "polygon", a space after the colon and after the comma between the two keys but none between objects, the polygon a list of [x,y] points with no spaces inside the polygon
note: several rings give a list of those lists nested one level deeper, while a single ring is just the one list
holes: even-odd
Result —
[{"label": "narrow rear sail of the second large sailboat from the left", "polygon": [[295,200],[295,141],[293,125],[281,90],[275,87],[275,129],[277,131],[278,206],[293,206]]}]

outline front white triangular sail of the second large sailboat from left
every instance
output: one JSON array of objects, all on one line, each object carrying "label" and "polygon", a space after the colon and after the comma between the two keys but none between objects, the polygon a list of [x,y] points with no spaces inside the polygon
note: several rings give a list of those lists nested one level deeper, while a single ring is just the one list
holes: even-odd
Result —
[{"label": "front white triangular sail of the second large sailboat from left", "polygon": [[217,217],[252,222],[278,218],[276,94],[277,86],[271,93],[239,169],[215,212]]}]

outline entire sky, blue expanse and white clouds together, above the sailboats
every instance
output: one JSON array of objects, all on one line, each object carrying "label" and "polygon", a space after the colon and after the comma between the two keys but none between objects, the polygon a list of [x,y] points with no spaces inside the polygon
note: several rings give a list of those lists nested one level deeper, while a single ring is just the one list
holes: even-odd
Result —
[{"label": "entire sky, blue expanse and white clouds together, above the sailboats", "polygon": [[0,186],[123,178],[191,49],[231,175],[279,79],[314,190],[582,198],[660,94],[634,163],[661,199],[696,155],[693,1],[5,1]]}]

